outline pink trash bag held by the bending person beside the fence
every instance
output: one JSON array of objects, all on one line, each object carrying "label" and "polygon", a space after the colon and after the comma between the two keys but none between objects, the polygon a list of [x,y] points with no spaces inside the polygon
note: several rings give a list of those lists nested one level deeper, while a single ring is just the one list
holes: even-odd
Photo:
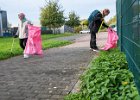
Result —
[{"label": "pink trash bag held by the bending person beside the fence", "polygon": [[105,46],[101,50],[109,50],[111,48],[116,48],[117,47],[117,40],[118,40],[118,35],[117,33],[111,29],[108,28],[108,39],[105,44]]}]

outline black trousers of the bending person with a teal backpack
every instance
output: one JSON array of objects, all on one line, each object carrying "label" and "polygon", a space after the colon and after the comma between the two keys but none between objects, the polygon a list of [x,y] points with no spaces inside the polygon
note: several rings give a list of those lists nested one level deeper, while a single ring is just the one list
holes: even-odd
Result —
[{"label": "black trousers of the bending person with a teal backpack", "polygon": [[91,33],[91,39],[90,39],[90,48],[97,49],[96,45],[96,31],[90,30]]}]

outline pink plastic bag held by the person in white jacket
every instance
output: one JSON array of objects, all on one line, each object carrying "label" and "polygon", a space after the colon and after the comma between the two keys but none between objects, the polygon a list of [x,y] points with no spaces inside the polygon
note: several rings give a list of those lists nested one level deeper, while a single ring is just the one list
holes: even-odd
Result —
[{"label": "pink plastic bag held by the person in white jacket", "polygon": [[24,54],[43,54],[40,27],[28,25],[28,40]]}]

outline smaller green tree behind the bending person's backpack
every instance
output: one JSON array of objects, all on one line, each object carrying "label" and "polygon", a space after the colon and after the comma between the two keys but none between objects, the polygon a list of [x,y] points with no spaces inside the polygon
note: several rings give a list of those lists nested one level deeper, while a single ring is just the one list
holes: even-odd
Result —
[{"label": "smaller green tree behind the bending person's backpack", "polygon": [[66,21],[66,25],[70,26],[70,27],[76,27],[80,25],[80,17],[74,12],[70,12],[69,13],[69,20]]}]

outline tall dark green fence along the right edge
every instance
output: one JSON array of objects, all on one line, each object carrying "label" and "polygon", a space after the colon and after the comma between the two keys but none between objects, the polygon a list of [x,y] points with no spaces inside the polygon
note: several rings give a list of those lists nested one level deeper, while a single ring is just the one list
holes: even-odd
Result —
[{"label": "tall dark green fence along the right edge", "polygon": [[119,47],[140,92],[140,0],[116,0]]}]

